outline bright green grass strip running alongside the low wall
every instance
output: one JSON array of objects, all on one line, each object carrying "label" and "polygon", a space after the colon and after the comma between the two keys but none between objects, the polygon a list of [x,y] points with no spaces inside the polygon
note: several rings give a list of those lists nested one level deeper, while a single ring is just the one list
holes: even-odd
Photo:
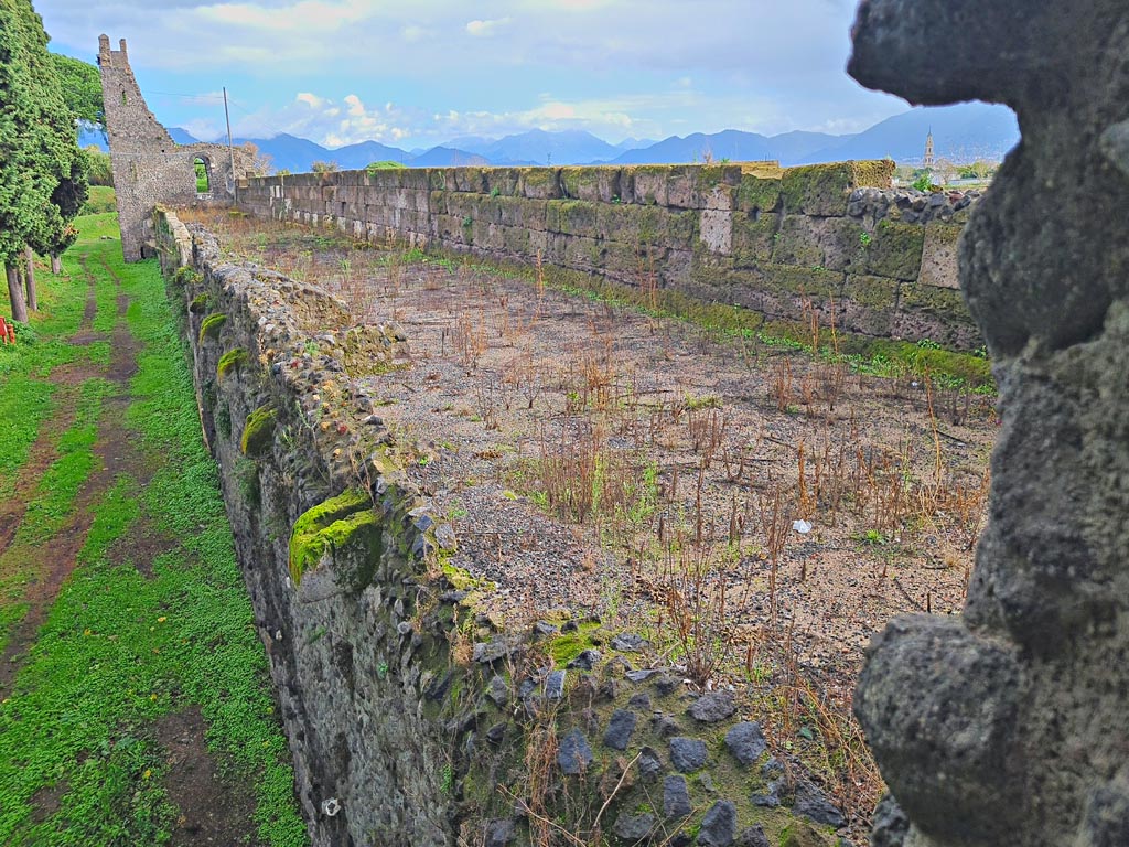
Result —
[{"label": "bright green grass strip running alongside the low wall", "polygon": [[[254,786],[259,838],[275,847],[307,844],[266,658],[236,566],[215,464],[201,444],[191,376],[159,272],[151,261],[124,265],[116,241],[98,241],[114,232],[112,219],[85,218],[79,226],[84,235],[67,256],[68,268],[77,273],[77,256],[89,255],[99,311],[114,290],[103,260],[132,298],[126,321],[145,347],[125,424],[140,449],[163,464],[145,489],[122,475],[91,507],[78,568],[0,702],[0,842],[167,844],[177,812],[163,787],[167,766],[152,727],[195,704],[220,768],[234,783]],[[9,471],[26,461],[27,446],[52,412],[56,390],[45,374],[85,355],[62,350],[59,340],[77,326],[75,311],[81,315],[85,283],[78,282],[77,277],[73,291],[51,287],[58,313],[36,324],[45,340],[35,350],[45,358],[29,355],[30,346],[0,358],[8,384],[30,401],[12,407],[25,411],[24,420],[0,435],[16,439],[17,454],[6,451],[0,457]],[[50,536],[73,507],[90,470],[80,457],[88,455],[107,394],[102,379],[82,383],[75,425],[36,495],[43,506],[29,515],[32,529],[20,533]],[[0,426],[6,420],[0,414]],[[141,562],[151,565],[151,578],[111,552],[141,519],[176,542],[170,552]],[[19,613],[16,605],[0,608],[0,623]],[[52,787],[59,809],[37,822],[33,796]]]}]

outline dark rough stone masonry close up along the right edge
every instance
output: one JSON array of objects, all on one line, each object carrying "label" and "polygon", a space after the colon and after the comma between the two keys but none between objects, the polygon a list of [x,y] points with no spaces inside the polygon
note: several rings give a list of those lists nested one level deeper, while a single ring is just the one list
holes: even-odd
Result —
[{"label": "dark rough stone masonry close up along the right edge", "polygon": [[964,615],[891,623],[855,699],[874,842],[1129,844],[1129,3],[867,0],[854,41],[864,85],[1023,129],[959,245],[1003,417]]}]

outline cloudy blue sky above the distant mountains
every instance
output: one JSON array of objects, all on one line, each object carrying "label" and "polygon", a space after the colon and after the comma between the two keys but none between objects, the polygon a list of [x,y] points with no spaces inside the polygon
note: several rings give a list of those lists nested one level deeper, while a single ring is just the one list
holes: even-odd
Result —
[{"label": "cloudy blue sky above the distant mountains", "polygon": [[856,0],[34,0],[52,50],[98,34],[168,126],[430,147],[585,129],[609,141],[852,132],[907,105],[843,72]]}]

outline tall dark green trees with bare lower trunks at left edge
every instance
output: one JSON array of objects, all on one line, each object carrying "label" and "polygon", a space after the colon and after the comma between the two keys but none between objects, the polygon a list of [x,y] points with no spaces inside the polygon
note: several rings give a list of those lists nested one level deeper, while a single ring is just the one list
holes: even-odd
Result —
[{"label": "tall dark green trees with bare lower trunks at left edge", "polygon": [[38,308],[33,254],[51,256],[58,272],[78,236],[73,220],[88,193],[80,119],[102,122],[97,69],[47,52],[30,0],[0,0],[0,265],[16,321]]}]

